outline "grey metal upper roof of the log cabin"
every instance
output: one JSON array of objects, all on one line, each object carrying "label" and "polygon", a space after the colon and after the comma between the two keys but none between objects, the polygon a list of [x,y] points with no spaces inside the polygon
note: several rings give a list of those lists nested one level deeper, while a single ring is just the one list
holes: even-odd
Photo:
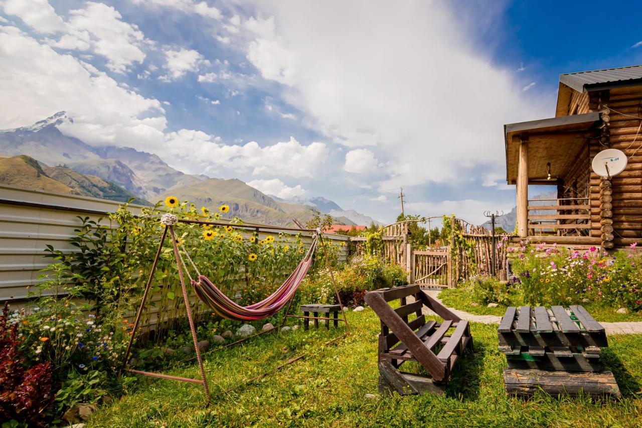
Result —
[{"label": "grey metal upper roof of the log cabin", "polygon": [[642,66],[568,73],[560,75],[560,83],[572,87],[578,92],[584,92],[585,89],[590,91],[610,89],[611,87],[624,84],[642,84]]}]

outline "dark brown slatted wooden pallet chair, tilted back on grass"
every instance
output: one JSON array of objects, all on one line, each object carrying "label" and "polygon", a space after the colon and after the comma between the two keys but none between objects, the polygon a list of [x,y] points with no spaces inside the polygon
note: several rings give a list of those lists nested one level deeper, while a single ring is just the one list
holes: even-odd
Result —
[{"label": "dark brown slatted wooden pallet chair, tilted back on grass", "polygon": [[[413,299],[411,303],[409,298]],[[397,299],[401,305],[392,308],[388,302]],[[381,319],[379,391],[396,391],[401,395],[444,393],[455,362],[466,349],[473,350],[468,321],[429,297],[419,285],[367,292],[365,301]],[[426,321],[422,314],[424,306],[444,321]],[[399,371],[406,361],[419,362],[432,379]]]}]

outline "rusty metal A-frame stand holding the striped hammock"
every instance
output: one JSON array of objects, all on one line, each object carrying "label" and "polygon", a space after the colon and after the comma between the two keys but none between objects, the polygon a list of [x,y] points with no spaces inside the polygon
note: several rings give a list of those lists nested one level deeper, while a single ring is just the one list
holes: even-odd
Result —
[{"label": "rusty metal A-frame stand holding the striped hammock", "polygon": [[[210,391],[209,391],[209,386],[207,385],[207,379],[205,377],[205,369],[204,369],[204,366],[203,366],[203,360],[202,360],[202,357],[201,357],[201,352],[198,349],[198,338],[196,337],[196,328],[195,328],[195,325],[194,325],[194,319],[193,319],[193,316],[192,316],[192,310],[191,310],[191,307],[189,306],[189,298],[187,296],[187,287],[185,285],[185,276],[184,276],[184,273],[183,273],[183,267],[185,267],[186,272],[187,272],[187,265],[185,265],[185,263],[184,263],[184,261],[182,259],[182,256],[180,254],[180,251],[178,250],[178,240],[176,238],[176,233],[174,231],[174,226],[177,223],[209,224],[211,226],[232,226],[232,227],[236,227],[236,228],[239,228],[239,229],[259,229],[259,227],[260,227],[261,229],[277,229],[277,230],[290,230],[290,231],[299,231],[299,232],[313,232],[313,233],[315,233],[315,239],[318,238],[318,240],[319,240],[319,242],[321,244],[321,247],[324,249],[324,251],[325,251],[325,242],[323,240],[323,236],[322,236],[322,233],[321,233],[320,229],[316,229],[316,230],[313,230],[313,229],[302,229],[302,228],[301,229],[293,229],[291,227],[259,226],[259,225],[254,225],[254,224],[228,224],[228,223],[223,223],[223,222],[209,222],[209,221],[204,221],[204,220],[180,219],[180,218],[177,218],[175,215],[173,215],[171,213],[166,213],[166,214],[162,215],[162,217],[160,218],[160,224],[162,224],[162,226],[164,226],[164,229],[162,231],[162,235],[160,236],[159,247],[158,247],[158,249],[156,251],[156,255],[155,255],[153,263],[152,263],[152,269],[150,270],[150,275],[149,275],[147,283],[145,285],[145,289],[144,289],[144,292],[143,292],[143,298],[141,299],[141,304],[139,305],[138,311],[136,313],[136,318],[135,318],[135,321],[134,321],[134,328],[133,328],[133,330],[131,332],[131,337],[129,339],[129,343],[127,345],[127,349],[125,351],[125,357],[123,358],[123,365],[121,366],[121,368],[119,370],[119,375],[121,375],[121,373],[123,371],[127,371],[128,373],[134,373],[136,375],[144,375],[144,376],[150,376],[150,377],[157,377],[157,378],[160,378],[160,379],[179,380],[181,382],[190,382],[190,383],[194,383],[194,384],[201,384],[203,386],[204,390],[205,390],[205,397],[207,397],[207,403],[209,404],[211,395],[210,395]],[[143,314],[143,310],[145,308],[146,301],[147,301],[147,298],[148,298],[149,293],[150,293],[150,289],[152,288],[152,281],[153,281],[153,278],[154,278],[154,273],[156,271],[156,267],[157,267],[157,264],[158,264],[158,261],[159,261],[159,258],[160,258],[160,253],[162,252],[162,247],[163,247],[163,244],[165,242],[165,238],[168,235],[168,231],[169,231],[169,235],[171,236],[171,244],[172,244],[173,254],[174,254],[174,258],[176,260],[176,265],[177,265],[177,269],[178,269],[178,280],[180,281],[180,288],[182,290],[183,301],[185,303],[185,311],[186,311],[186,314],[187,314],[187,321],[189,323],[189,330],[191,331],[192,340],[193,340],[193,343],[194,343],[194,350],[195,350],[195,353],[196,353],[196,361],[198,361],[198,369],[200,371],[200,378],[201,379],[191,379],[191,378],[187,378],[187,377],[164,375],[162,373],[154,373],[152,371],[134,370],[132,368],[127,368],[127,364],[129,362],[129,359],[130,359],[130,353],[132,351],[132,345],[134,344],[135,335],[136,335],[136,332],[138,330],[138,327],[139,327],[140,321],[141,321],[141,315]],[[316,244],[316,242],[313,242],[313,247],[310,249],[309,253],[314,251],[314,245],[315,244]],[[189,259],[189,255],[187,255],[186,251],[185,251],[185,253],[186,253],[187,258]],[[306,258],[310,255],[309,253],[306,255]],[[189,259],[189,262],[193,264],[193,262],[191,262],[191,259]],[[337,301],[338,301],[338,303],[339,303],[339,305],[341,307],[341,312],[343,314],[343,319],[340,319],[339,321],[343,321],[345,323],[345,326],[346,326],[346,329],[347,329],[348,328],[348,320],[347,320],[347,317],[345,316],[345,310],[343,308],[343,304],[342,304],[341,298],[339,296],[339,290],[338,290],[338,288],[336,286],[336,281],[334,281],[334,273],[333,273],[333,270],[332,270],[332,267],[331,267],[329,261],[327,260],[327,257],[325,258],[325,263],[326,263],[326,267],[327,267],[327,269],[328,269],[328,271],[330,273],[330,278],[331,278],[332,283],[333,283],[334,293],[336,294],[336,299],[337,299]],[[299,267],[297,267],[297,270],[300,269],[300,266],[301,265],[299,265]],[[194,265],[193,265],[193,267],[196,269],[196,267]],[[187,275],[189,276],[189,272],[187,272]],[[191,277],[190,277],[190,279],[191,279]],[[290,280],[290,278],[288,278],[288,280]],[[286,282],[288,280],[286,280]],[[191,280],[191,282],[192,282],[193,286],[196,284],[196,281]],[[200,282],[200,280],[199,280],[199,282]],[[281,287],[283,287],[283,286],[281,286]],[[296,292],[297,288],[298,288],[298,284],[295,285],[295,292]],[[198,295],[198,292],[197,292],[197,297],[198,298],[201,297],[201,296]],[[288,307],[286,308],[285,316],[283,317],[283,322],[281,324],[281,327],[285,325],[286,320],[288,319],[288,317],[301,318],[300,316],[290,315],[290,313],[289,313],[293,297],[294,297],[294,293],[292,293],[291,296],[288,298]],[[207,303],[207,301],[204,301],[204,303],[209,306],[209,303]],[[250,305],[250,306],[252,306],[252,305]],[[270,315],[267,315],[265,317],[270,317],[272,315],[273,314],[270,314]],[[306,317],[306,318],[308,318],[308,319],[325,319],[324,317]],[[271,328],[269,330],[262,330],[261,332],[259,332],[257,334],[250,335],[248,337],[245,337],[245,339],[241,339],[241,340],[236,341],[234,343],[227,344],[225,346],[222,346],[219,349],[229,348],[230,346],[234,346],[236,344],[239,344],[239,343],[242,343],[244,341],[247,341],[248,339],[251,339],[252,337],[256,337],[257,335],[268,333],[268,332],[273,332],[275,330],[277,330],[277,328]],[[345,333],[345,334],[347,334],[347,333]],[[345,334],[343,334],[340,337],[336,337],[336,339],[333,339],[333,341],[335,341],[337,339],[340,339],[341,337],[345,336]],[[285,364],[282,364],[281,366],[279,366],[277,368],[277,370],[283,368],[284,366],[287,366],[288,364],[292,364],[295,361],[299,361],[300,359],[305,357],[305,355],[306,354],[303,354],[303,355],[300,355],[297,358],[288,360]],[[263,375],[261,375],[260,377],[264,377],[268,373],[270,373],[270,372],[266,372]]]}]

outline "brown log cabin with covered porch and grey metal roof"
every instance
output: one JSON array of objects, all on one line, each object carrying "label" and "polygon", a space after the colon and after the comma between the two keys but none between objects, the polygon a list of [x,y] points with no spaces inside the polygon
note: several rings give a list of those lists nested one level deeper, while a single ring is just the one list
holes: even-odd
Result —
[{"label": "brown log cabin with covered porch and grey metal roof", "polygon": [[[560,75],[554,118],[504,125],[507,182],[517,188],[516,241],[642,245],[641,118],[642,66],[630,66]],[[610,179],[591,170],[605,148],[628,158]],[[556,186],[557,197],[529,200],[532,185]]]}]

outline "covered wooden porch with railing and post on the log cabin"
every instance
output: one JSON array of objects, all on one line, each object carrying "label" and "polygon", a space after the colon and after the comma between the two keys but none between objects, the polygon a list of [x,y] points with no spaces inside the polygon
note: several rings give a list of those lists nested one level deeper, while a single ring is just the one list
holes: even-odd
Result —
[{"label": "covered wooden porch with railing and post on the log cabin", "polygon": [[[504,126],[507,183],[517,188],[517,238],[561,245],[599,245],[591,227],[591,139],[600,113],[591,112]],[[529,198],[528,186],[551,186],[553,197]]]}]

